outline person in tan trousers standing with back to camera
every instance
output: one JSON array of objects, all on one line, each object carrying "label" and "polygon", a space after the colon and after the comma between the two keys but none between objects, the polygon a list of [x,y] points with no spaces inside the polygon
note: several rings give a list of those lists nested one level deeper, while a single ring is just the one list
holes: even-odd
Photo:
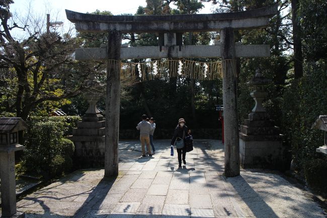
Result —
[{"label": "person in tan trousers standing with back to camera", "polygon": [[150,131],[151,131],[151,124],[146,121],[146,115],[142,115],[142,121],[139,122],[136,126],[137,130],[140,130],[140,141],[141,141],[141,147],[142,147],[142,157],[146,157],[145,155],[145,143],[147,152],[149,154],[149,157],[152,157],[151,153],[151,147],[150,147]]}]

